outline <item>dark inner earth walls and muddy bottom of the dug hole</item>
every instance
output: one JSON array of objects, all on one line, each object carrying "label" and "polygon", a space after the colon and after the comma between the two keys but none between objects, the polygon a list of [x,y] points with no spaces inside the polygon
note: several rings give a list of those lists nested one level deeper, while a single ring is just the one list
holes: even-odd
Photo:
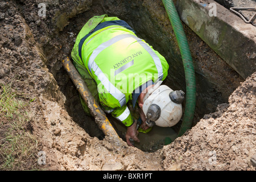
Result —
[{"label": "dark inner earth walls and muddy bottom of the dug hole", "polygon": [[[94,15],[108,14],[125,20],[137,32],[139,38],[146,40],[159,51],[170,64],[168,77],[163,82],[174,90],[185,91],[185,76],[182,59],[177,46],[168,16],[161,1],[84,1],[79,5],[63,3],[63,8],[56,13],[57,5],[48,2],[49,15],[56,26],[48,30],[48,35],[39,38],[46,65],[55,77],[64,97],[56,96],[65,109],[91,137],[104,138],[94,118],[85,115],[80,103],[79,93],[65,72],[61,60],[64,56],[71,57],[71,51],[80,29]],[[82,9],[82,10],[81,10]],[[81,11],[81,12],[80,12]],[[184,25],[189,47],[195,65],[197,95],[196,113],[193,125],[205,114],[216,110],[217,105],[228,102],[228,97],[236,89],[243,78],[238,75],[224,60],[221,59],[207,44],[203,42],[189,27]],[[36,28],[35,28],[36,29]],[[37,28],[38,30],[38,28]],[[36,32],[36,31],[35,31]],[[42,32],[42,30],[38,30]],[[183,103],[183,106],[185,103]],[[118,134],[124,139],[125,127],[108,115]],[[155,127],[150,134],[139,134],[141,144],[137,147],[143,151],[155,151],[164,145],[164,138],[176,138],[181,122],[171,128]]]}]

